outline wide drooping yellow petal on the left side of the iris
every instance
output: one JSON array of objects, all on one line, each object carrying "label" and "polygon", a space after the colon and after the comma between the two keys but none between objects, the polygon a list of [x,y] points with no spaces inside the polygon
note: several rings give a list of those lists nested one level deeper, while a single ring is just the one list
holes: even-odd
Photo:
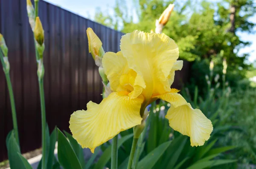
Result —
[{"label": "wide drooping yellow petal on the left side of the iris", "polygon": [[130,99],[128,92],[113,92],[100,104],[90,101],[87,110],[78,110],[70,117],[70,131],[84,148],[91,152],[119,132],[141,123],[142,99]]}]

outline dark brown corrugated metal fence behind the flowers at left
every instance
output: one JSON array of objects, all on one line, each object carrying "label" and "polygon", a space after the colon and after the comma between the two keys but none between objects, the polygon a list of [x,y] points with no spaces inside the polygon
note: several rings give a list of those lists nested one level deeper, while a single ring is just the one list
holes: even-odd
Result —
[{"label": "dark brown corrugated metal fence behind the flowers at left", "polygon": [[[102,40],[105,51],[119,51],[122,32],[87,20],[40,1],[39,16],[45,33],[45,101],[49,129],[57,125],[69,131],[74,110],[86,109],[88,101],[102,99],[101,78],[88,52],[87,27]],[[26,13],[26,0],[0,0],[0,32],[9,47],[11,80],[15,95],[22,152],[41,146],[41,114],[35,49]],[[187,79],[188,63],[176,75]],[[1,67],[1,66],[0,66]],[[178,87],[178,85],[176,85]],[[0,70],[0,161],[7,158],[5,139],[12,130],[9,93]]]}]

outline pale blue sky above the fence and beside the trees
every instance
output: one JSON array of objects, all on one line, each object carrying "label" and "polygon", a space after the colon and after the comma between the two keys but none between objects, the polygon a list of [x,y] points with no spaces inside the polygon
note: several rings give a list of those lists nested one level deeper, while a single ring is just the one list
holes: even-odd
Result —
[{"label": "pale blue sky above the fence and beside the trees", "polygon": [[[116,0],[45,0],[54,5],[61,6],[61,8],[67,9],[75,14],[79,14],[82,17],[93,20],[96,8],[101,8],[102,11],[108,11],[113,14],[113,6]],[[211,0],[213,1],[213,0]],[[132,7],[133,0],[127,0],[127,6],[129,9]],[[214,1],[213,1],[214,2]],[[134,11],[130,10],[131,13]],[[256,14],[250,18],[250,21],[256,23]],[[256,28],[254,28],[256,31]],[[256,34],[247,34],[238,32],[239,37],[244,41],[252,42],[252,45],[247,48],[243,48],[239,51],[239,54],[250,53],[249,62],[256,62]]]}]

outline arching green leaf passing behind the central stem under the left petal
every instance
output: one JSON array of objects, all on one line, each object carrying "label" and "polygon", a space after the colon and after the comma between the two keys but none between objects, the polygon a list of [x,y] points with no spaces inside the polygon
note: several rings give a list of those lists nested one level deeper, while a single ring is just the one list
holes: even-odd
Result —
[{"label": "arching green leaf passing behind the central stem under the left petal", "polygon": [[[125,137],[118,139],[117,149],[132,136],[133,136],[133,133],[129,135],[125,135]],[[103,169],[106,163],[108,163],[108,161],[110,160],[110,158],[111,158],[111,146],[108,146],[108,148],[103,152],[102,156],[97,161],[94,169]]]}]

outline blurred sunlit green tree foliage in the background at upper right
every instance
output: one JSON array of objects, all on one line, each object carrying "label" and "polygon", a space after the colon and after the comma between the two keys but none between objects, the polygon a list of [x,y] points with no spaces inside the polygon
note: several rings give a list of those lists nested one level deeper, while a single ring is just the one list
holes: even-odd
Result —
[{"label": "blurred sunlit green tree foliage in the background at upper right", "polygon": [[205,94],[206,82],[202,78],[209,72],[210,60],[214,61],[215,73],[221,73],[224,58],[228,63],[227,80],[230,86],[237,87],[241,80],[244,85],[249,84],[244,78],[248,72],[250,76],[256,76],[255,68],[247,61],[249,54],[239,54],[239,50],[250,42],[242,41],[236,32],[253,33],[255,24],[248,20],[256,12],[253,0],[223,0],[219,3],[204,0],[133,0],[136,14],[131,14],[126,0],[116,0],[113,14],[97,8],[94,20],[124,33],[134,29],[150,32],[155,28],[155,20],[170,3],[174,3],[175,8],[163,33],[179,46],[180,59],[191,62],[190,89],[198,85],[200,94]]}]

